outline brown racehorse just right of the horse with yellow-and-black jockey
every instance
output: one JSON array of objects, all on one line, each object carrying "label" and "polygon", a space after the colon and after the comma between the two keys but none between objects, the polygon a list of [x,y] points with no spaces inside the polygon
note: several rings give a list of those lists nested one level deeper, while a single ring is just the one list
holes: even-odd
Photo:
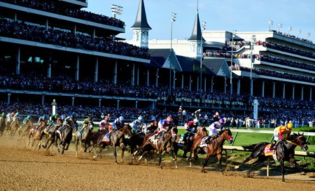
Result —
[{"label": "brown racehorse just right of the horse with yellow-and-black jockey", "polygon": [[[93,156],[95,159],[96,157],[99,156],[99,154],[106,148],[106,146],[112,146],[113,148],[113,155],[115,157],[115,164],[117,164],[117,152],[116,152],[116,147],[119,146],[122,148],[121,152],[121,161],[123,161],[124,153],[126,148],[126,141],[125,141],[125,135],[127,136],[132,136],[132,127],[130,127],[129,124],[125,124],[123,127],[120,127],[120,129],[113,129],[109,133],[110,140],[104,139],[104,136],[106,134],[100,134],[98,139],[97,139],[97,145],[99,146],[99,152]],[[92,150],[92,149],[91,149]]]}]

